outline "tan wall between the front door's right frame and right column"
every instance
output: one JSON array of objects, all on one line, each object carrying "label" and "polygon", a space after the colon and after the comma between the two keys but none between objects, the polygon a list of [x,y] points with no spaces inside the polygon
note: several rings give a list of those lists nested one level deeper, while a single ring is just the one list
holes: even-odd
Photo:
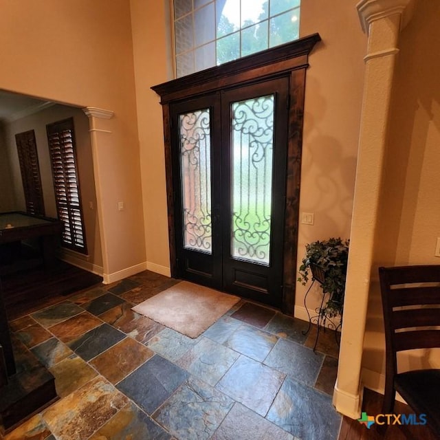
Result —
[{"label": "tan wall between the front door's right frame and right column", "polygon": [[[350,236],[366,48],[356,3],[301,4],[300,36],[319,32],[322,42],[309,57],[300,192],[300,212],[314,212],[315,223],[299,225],[298,266],[306,243]],[[305,319],[308,286],[296,287],[295,315]],[[320,287],[314,287],[307,307],[318,307],[321,296]]]}]

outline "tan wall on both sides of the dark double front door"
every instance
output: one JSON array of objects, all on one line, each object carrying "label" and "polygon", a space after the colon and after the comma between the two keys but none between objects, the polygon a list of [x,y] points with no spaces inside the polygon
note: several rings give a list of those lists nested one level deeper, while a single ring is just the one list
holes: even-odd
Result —
[{"label": "tan wall on both sides of the dark double front door", "polygon": [[[315,213],[315,225],[300,225],[298,258],[309,241],[348,237],[351,223],[366,36],[355,1],[350,7],[347,0],[327,3],[304,1],[301,10],[301,36],[320,32],[322,43],[312,52],[307,72],[300,200],[300,210]],[[147,261],[164,273],[170,263],[162,109],[149,87],[172,79],[168,30],[162,24],[169,20],[167,5],[166,0],[154,7],[131,0]],[[298,285],[296,314],[302,318],[304,294]],[[314,294],[312,308],[320,299],[318,291]]]}]

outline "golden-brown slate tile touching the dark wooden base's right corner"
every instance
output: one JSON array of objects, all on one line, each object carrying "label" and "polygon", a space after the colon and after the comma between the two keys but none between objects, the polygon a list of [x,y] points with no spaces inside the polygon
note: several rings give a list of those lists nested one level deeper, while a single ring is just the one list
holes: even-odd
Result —
[{"label": "golden-brown slate tile touching the dark wooden base's right corner", "polygon": [[87,362],[75,354],[51,366],[49,371],[55,377],[56,394],[59,397],[73,393],[97,375]]}]

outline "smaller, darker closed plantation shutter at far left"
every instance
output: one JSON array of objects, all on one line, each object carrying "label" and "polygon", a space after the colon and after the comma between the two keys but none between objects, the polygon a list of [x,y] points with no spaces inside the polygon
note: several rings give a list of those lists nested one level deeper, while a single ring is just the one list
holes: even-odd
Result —
[{"label": "smaller, darker closed plantation shutter at far left", "polygon": [[36,152],[34,130],[17,133],[15,142],[19,155],[26,212],[44,215],[43,188],[41,186],[39,156]]}]

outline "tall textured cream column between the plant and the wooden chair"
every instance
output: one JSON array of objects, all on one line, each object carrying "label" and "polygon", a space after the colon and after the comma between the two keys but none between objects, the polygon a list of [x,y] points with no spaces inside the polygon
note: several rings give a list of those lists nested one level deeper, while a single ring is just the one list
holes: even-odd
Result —
[{"label": "tall textured cream column between the plant and the wooden chair", "polygon": [[360,373],[369,299],[373,249],[399,32],[412,16],[412,0],[362,0],[358,13],[369,36],[351,223],[344,324],[333,404],[360,417]]}]

